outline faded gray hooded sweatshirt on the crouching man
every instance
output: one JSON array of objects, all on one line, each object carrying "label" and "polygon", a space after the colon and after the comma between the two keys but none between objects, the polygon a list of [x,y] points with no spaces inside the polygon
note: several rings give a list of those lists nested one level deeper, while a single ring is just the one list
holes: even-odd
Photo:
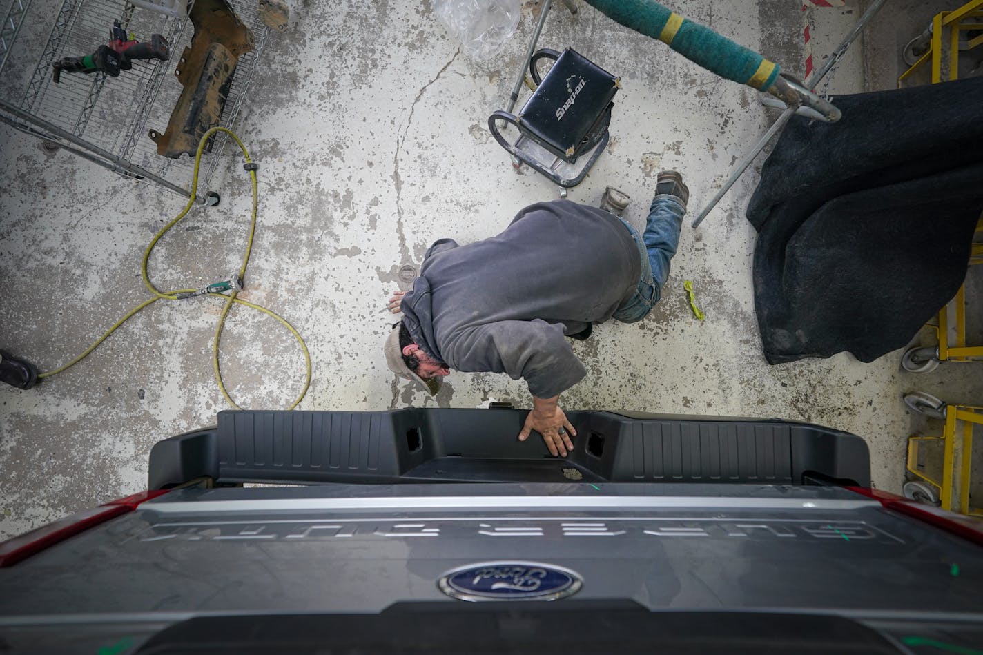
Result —
[{"label": "faded gray hooded sweatshirt on the crouching man", "polygon": [[638,286],[638,247],[600,208],[569,201],[522,209],[504,232],[431,246],[403,322],[434,359],[522,378],[549,398],[586,375],[565,335],[604,323]]}]

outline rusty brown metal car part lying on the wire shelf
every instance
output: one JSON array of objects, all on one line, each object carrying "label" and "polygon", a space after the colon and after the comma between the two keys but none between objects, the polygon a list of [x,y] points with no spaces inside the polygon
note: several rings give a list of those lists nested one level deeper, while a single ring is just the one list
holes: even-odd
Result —
[{"label": "rusty brown metal car part lying on the wire shelf", "polygon": [[196,0],[191,22],[195,35],[174,71],[184,90],[164,134],[149,133],[165,157],[194,154],[204,133],[219,125],[239,57],[253,49],[253,31],[225,0]]}]

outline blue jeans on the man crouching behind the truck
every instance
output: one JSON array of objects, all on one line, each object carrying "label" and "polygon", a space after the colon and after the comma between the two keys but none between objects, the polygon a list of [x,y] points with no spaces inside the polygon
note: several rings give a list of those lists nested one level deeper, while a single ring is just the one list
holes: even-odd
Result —
[{"label": "blue jeans on the man crouching behind the truck", "polygon": [[642,260],[642,272],[638,279],[635,294],[621,303],[614,312],[613,319],[621,323],[636,323],[645,318],[652,307],[659,302],[665,280],[669,277],[669,260],[679,247],[679,230],[686,208],[675,196],[662,194],[656,196],[649,208],[645,233],[638,232],[623,218],[621,222],[628,228],[638,254]]}]

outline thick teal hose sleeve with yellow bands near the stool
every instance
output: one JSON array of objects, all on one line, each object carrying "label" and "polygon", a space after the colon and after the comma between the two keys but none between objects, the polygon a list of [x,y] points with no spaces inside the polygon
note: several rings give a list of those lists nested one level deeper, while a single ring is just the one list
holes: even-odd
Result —
[{"label": "thick teal hose sleeve with yellow bands near the stool", "polygon": [[726,80],[765,91],[781,72],[778,64],[754,50],[684,19],[653,0],[587,0],[587,3],[626,28],[658,38]]}]

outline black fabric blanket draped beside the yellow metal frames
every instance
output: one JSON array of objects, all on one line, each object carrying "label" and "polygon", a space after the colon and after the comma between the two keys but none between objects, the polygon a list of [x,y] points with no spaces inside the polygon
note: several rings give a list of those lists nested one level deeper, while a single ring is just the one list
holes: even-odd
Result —
[{"label": "black fabric blanket draped beside the yellow metal frames", "polygon": [[983,209],[983,78],[834,102],[838,123],[792,118],[747,208],[770,364],[905,345],[958,290]]}]

